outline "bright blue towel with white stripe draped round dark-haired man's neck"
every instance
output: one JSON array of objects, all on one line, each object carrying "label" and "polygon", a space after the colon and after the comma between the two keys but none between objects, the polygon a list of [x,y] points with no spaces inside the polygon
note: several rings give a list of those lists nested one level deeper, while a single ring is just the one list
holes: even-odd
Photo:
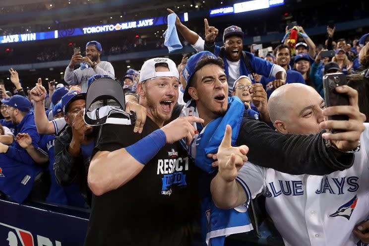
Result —
[{"label": "bright blue towel with white stripe draped round dark-haired man's neck", "polygon": [[[216,171],[211,166],[212,159],[207,158],[209,153],[217,153],[223,140],[227,124],[232,127],[232,145],[235,145],[240,132],[245,106],[238,97],[228,98],[227,113],[208,123],[201,132],[200,125],[194,125],[195,135],[189,146],[185,140],[180,140],[189,156],[195,160],[196,166],[207,174]],[[181,116],[198,117],[195,102],[190,100],[184,106]],[[210,183],[207,184],[210,187]],[[247,206],[239,206],[234,209],[217,208],[211,197],[205,197],[201,204],[201,231],[207,245],[223,246],[225,237],[231,234],[243,233],[252,230],[252,225],[247,213]]]}]

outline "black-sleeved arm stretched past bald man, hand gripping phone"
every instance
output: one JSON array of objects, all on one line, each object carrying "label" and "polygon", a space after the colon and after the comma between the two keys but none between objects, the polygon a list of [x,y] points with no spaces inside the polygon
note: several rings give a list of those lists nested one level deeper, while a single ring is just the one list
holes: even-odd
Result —
[{"label": "black-sleeved arm stretched past bald man, hand gripping phone", "polygon": [[[248,146],[247,157],[250,162],[292,175],[325,175],[351,167],[354,155],[342,151],[357,148],[360,134],[365,129],[363,123],[366,117],[359,111],[357,91],[348,86],[337,87],[336,90],[349,96],[350,106],[329,107],[323,114],[348,115],[349,121],[324,121],[320,123],[320,127],[346,129],[346,132],[332,134],[320,131],[315,135],[282,134],[270,129],[264,123],[246,120],[243,122],[236,144]],[[339,151],[326,147],[325,139],[332,141]]]}]

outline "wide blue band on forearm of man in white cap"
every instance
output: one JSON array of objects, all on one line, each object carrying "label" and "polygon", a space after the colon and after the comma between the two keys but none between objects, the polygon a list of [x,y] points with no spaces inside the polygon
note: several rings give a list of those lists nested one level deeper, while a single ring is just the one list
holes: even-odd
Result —
[{"label": "wide blue band on forearm of man in white cap", "polygon": [[139,163],[146,165],[166,143],[167,137],[164,131],[157,129],[138,142],[129,145],[125,150]]}]

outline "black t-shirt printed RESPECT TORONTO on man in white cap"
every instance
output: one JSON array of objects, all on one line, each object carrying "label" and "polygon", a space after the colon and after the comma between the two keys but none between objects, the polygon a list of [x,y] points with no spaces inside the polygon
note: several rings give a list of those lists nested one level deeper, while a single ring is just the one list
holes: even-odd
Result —
[{"label": "black t-shirt printed RESPECT TORONTO on man in white cap", "polygon": [[[103,125],[93,155],[132,145],[159,128],[150,118],[141,134],[133,127]],[[166,144],[127,184],[93,196],[85,246],[191,245],[198,173],[178,142]]]}]

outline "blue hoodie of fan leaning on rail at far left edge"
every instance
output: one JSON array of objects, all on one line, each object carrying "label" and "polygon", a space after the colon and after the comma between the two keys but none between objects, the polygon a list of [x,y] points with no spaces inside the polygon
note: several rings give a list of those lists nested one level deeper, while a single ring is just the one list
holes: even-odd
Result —
[{"label": "blue hoodie of fan leaning on rail at far left edge", "polygon": [[[19,133],[28,133],[31,136],[32,145],[38,149],[40,135],[33,111],[29,111],[16,126]],[[16,202],[22,203],[31,192],[41,168],[17,142],[9,146],[5,154],[0,154],[0,168],[0,190]]]}]

